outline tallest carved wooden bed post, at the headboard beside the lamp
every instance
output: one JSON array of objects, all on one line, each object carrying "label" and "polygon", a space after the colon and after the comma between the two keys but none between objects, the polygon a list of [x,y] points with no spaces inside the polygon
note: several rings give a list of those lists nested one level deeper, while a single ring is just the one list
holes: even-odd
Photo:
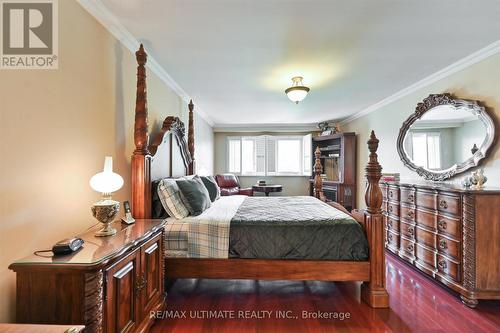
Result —
[{"label": "tallest carved wooden bed post, at the headboard beside the lamp", "polygon": [[134,143],[132,155],[132,213],[135,218],[151,216],[151,155],[148,150],[148,107],[146,92],[146,65],[148,55],[141,44],[135,53],[137,59],[137,97],[135,101]]}]

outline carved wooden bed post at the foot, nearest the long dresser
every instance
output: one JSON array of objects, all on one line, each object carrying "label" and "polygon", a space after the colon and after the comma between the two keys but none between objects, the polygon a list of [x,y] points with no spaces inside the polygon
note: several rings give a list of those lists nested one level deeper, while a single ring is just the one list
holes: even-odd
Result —
[{"label": "carved wooden bed post at the foot, nearest the long dresser", "polygon": [[368,140],[370,159],[366,165],[368,187],[365,192],[366,236],[370,246],[370,281],[361,286],[361,297],[373,308],[389,307],[389,294],[385,289],[384,222],[382,218],[382,190],[379,181],[382,167],[378,163],[379,140],[372,131]]}]

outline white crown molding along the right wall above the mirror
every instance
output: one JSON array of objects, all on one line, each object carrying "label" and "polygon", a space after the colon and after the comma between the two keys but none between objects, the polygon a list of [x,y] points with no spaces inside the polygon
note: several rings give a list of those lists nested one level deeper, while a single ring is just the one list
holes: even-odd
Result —
[{"label": "white crown molding along the right wall above the mirror", "polygon": [[412,84],[411,86],[409,87],[406,87],[400,91],[398,91],[397,93],[387,97],[387,98],[384,98],[383,100],[381,100],[380,102],[377,102],[369,107],[367,107],[366,109],[346,118],[346,119],[343,119],[342,121],[339,122],[340,125],[345,125],[347,123],[350,123],[351,121],[353,120],[356,120],[358,118],[361,118],[363,116],[366,116],[372,112],[375,112],[377,111],[378,109],[388,105],[388,104],[391,104],[395,101],[397,101],[398,99],[400,98],[403,98],[419,89],[422,89],[434,82],[437,82],[439,80],[442,80],[452,74],[455,74],[469,66],[472,66],[482,60],[485,60],[497,53],[500,52],[500,40],[480,49],[479,51],[477,52],[474,52],[472,53],[471,55],[468,55],[467,57],[465,58],[462,58],[460,59],[459,61],[441,69],[440,71],[437,71],[435,72],[434,74],[431,74],[429,76],[427,76],[426,78],[418,81],[418,82],[415,82],[414,84]]}]

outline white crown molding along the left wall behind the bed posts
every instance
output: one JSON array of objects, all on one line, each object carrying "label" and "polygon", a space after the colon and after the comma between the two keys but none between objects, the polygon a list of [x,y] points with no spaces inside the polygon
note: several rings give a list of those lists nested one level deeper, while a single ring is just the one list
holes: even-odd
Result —
[{"label": "white crown molding along the left wall behind the bed posts", "polygon": [[[120,43],[135,54],[139,47],[139,40],[128,31],[123,24],[98,0],[77,0],[99,23],[106,28]],[[148,53],[146,67],[155,73],[167,86],[172,89],[187,104],[191,100],[189,94],[167,73],[156,59]],[[210,126],[213,120],[195,104],[195,110]]]}]

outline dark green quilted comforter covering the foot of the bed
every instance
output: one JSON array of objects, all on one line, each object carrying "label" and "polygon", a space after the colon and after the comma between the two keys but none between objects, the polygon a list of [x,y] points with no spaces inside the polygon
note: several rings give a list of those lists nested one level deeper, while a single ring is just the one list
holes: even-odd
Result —
[{"label": "dark green quilted comforter covering the foot of the bed", "polygon": [[362,227],[314,197],[248,197],[231,220],[230,258],[367,260]]}]

